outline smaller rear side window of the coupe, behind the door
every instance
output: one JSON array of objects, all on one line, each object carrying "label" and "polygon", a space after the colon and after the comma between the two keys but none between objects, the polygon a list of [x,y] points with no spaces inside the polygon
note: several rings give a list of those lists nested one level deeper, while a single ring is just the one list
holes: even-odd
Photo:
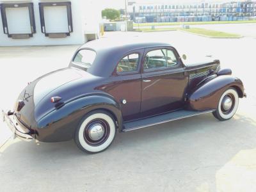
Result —
[{"label": "smaller rear side window of the coupe, behind the door", "polygon": [[133,53],[125,56],[119,61],[116,72],[135,72],[138,69],[139,54]]}]

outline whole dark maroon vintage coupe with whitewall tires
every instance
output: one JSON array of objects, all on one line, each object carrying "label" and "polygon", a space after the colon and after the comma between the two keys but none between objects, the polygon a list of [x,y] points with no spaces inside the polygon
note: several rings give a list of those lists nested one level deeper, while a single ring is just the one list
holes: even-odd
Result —
[{"label": "whole dark maroon vintage coupe with whitewall tires", "polygon": [[29,83],[3,115],[19,138],[74,139],[81,150],[97,153],[117,131],[204,113],[232,118],[246,94],[231,73],[219,60],[184,65],[170,44],[95,40],[79,47],[67,68]]}]

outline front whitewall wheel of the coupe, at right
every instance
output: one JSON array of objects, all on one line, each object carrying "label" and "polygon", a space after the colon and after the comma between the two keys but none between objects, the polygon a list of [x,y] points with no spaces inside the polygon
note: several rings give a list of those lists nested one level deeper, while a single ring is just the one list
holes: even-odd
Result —
[{"label": "front whitewall wheel of the coupe, at right", "polygon": [[213,115],[218,120],[224,121],[235,115],[239,104],[239,97],[234,88],[228,88],[220,97],[218,107]]}]

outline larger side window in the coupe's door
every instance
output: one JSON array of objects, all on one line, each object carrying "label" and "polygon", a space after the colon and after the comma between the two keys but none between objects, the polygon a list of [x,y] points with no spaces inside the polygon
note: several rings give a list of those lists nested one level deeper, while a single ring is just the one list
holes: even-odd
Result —
[{"label": "larger side window in the coupe's door", "polygon": [[146,54],[143,69],[175,67],[177,64],[177,58],[172,50],[156,49]]}]

